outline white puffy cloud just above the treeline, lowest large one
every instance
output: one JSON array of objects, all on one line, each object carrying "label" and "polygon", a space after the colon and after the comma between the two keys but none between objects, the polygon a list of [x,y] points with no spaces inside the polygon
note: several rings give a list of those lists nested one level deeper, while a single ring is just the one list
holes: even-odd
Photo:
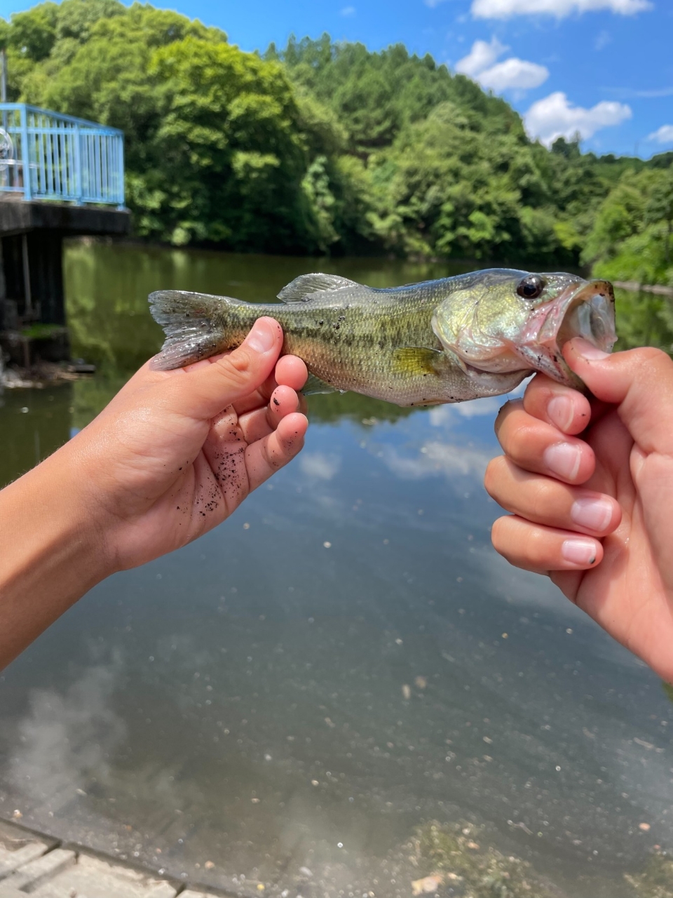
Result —
[{"label": "white puffy cloud just above the treeline, lowest large one", "polygon": [[625,103],[603,101],[585,110],[573,106],[563,92],[557,91],[533,103],[524,121],[530,136],[539,137],[543,144],[551,146],[557,137],[572,140],[579,134],[585,140],[600,128],[619,125],[631,116],[631,108]]}]

